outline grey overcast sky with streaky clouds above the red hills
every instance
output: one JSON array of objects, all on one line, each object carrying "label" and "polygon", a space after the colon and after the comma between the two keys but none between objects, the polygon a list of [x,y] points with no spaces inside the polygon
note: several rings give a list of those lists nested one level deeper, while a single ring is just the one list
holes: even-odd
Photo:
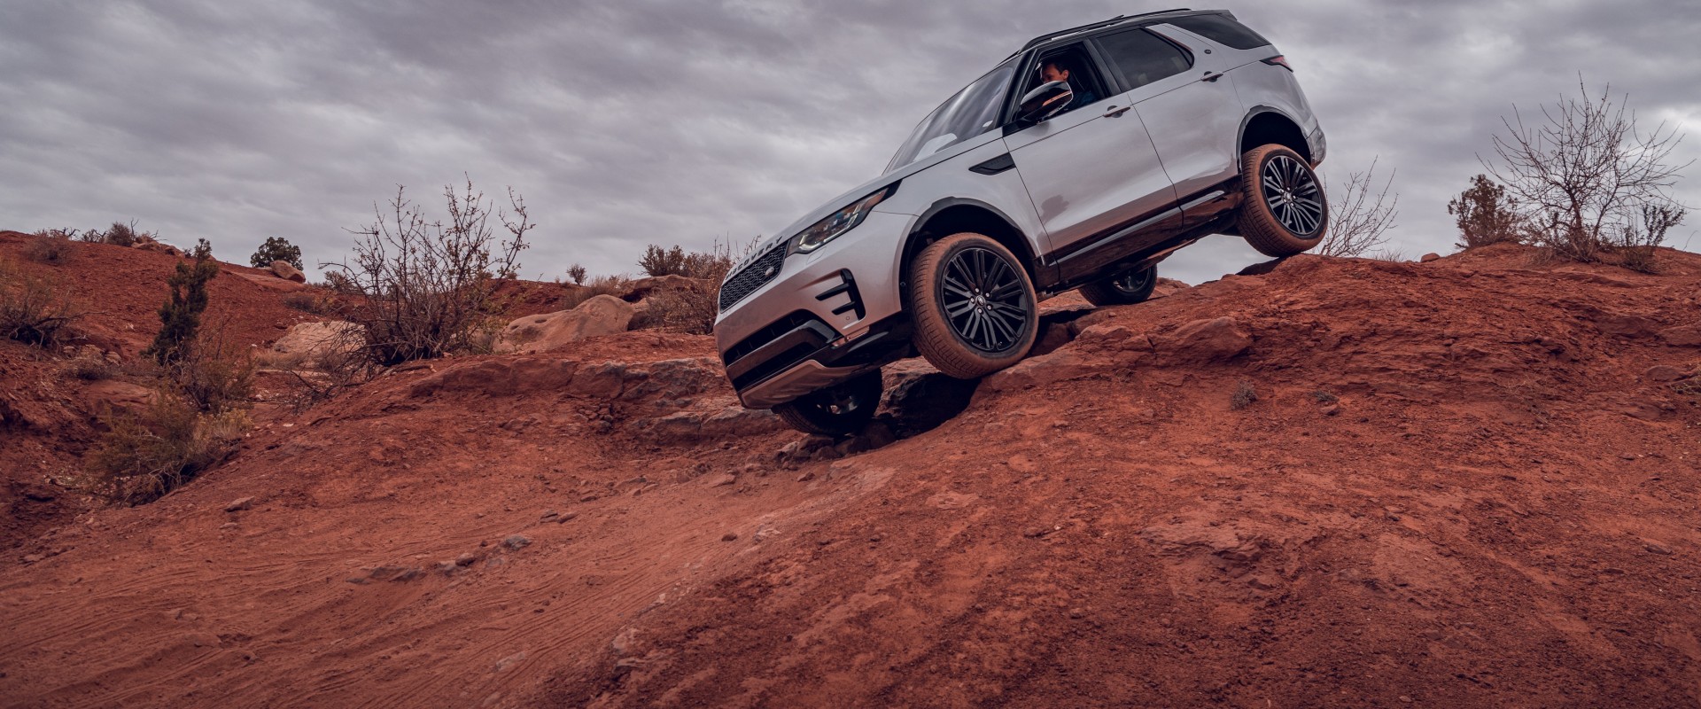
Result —
[{"label": "grey overcast sky with streaky clouds above the red hills", "polygon": [[[1499,116],[1611,82],[1701,156],[1696,0],[1320,0],[1228,7],[1300,73],[1330,182],[1398,172],[1390,248],[1448,252],[1449,196]],[[247,260],[338,260],[395,185],[526,196],[524,275],[629,272],[646,243],[772,233],[874,177],[946,95],[1102,0],[0,0],[0,228],[138,219]],[[1677,196],[1701,206],[1701,165]],[[1701,250],[1701,218],[1675,245]],[[1259,260],[1208,240],[1191,282]],[[310,269],[316,270],[316,269]]]}]

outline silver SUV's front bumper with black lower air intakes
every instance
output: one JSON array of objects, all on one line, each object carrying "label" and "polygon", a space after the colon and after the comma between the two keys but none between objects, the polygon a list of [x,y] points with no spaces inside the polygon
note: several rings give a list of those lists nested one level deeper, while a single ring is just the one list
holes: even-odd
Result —
[{"label": "silver SUV's front bumper with black lower air intakes", "polygon": [[714,342],[745,406],[791,401],[878,367],[908,345],[898,255],[912,221],[869,213],[815,253],[786,257],[771,281],[720,315]]}]

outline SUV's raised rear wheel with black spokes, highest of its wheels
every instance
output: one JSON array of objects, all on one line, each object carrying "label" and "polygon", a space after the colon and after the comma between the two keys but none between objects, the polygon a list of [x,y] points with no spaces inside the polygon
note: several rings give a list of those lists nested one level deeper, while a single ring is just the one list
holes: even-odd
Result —
[{"label": "SUV's raised rear wheel with black spokes, highest of its wheels", "polygon": [[1267,257],[1291,257],[1323,241],[1328,199],[1311,165],[1283,145],[1240,158],[1240,236]]}]

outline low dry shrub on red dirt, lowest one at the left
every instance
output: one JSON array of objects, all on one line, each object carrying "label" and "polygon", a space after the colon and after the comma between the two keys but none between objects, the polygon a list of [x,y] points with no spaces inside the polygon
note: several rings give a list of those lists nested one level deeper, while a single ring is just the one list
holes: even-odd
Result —
[{"label": "low dry shrub on red dirt, lowest one at the left", "polygon": [[122,505],[158,500],[223,462],[250,425],[247,411],[197,413],[172,391],[156,391],[138,413],[107,411],[102,418],[107,432],[90,452],[80,486]]}]

